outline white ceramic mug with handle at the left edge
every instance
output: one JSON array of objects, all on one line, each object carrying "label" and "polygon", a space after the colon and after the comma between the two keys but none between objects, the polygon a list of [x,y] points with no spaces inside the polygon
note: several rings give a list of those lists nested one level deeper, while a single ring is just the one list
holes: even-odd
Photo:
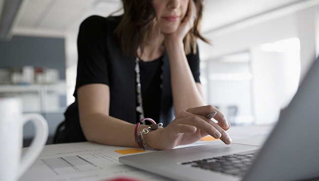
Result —
[{"label": "white ceramic mug with handle at the left edge", "polygon": [[[32,121],[35,135],[21,156],[23,124]],[[16,181],[35,161],[48,140],[48,123],[40,114],[22,114],[18,98],[0,98],[0,181]]]}]

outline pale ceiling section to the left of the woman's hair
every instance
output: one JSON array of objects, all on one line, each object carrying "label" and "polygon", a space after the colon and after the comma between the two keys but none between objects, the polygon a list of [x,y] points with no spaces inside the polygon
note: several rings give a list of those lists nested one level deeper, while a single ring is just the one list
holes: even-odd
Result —
[{"label": "pale ceiling section to the left of the woman's hair", "polygon": [[119,9],[119,0],[24,0],[13,33],[64,36],[90,15],[109,16]]}]

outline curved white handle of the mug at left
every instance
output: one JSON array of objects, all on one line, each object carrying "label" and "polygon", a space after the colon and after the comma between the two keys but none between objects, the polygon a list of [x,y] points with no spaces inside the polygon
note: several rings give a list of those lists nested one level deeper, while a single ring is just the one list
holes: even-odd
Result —
[{"label": "curved white handle of the mug at left", "polygon": [[23,175],[23,173],[29,168],[29,166],[31,166],[31,164],[42,152],[49,135],[48,122],[42,115],[35,113],[23,114],[22,125],[28,121],[33,122],[35,127],[35,135],[30,147],[27,148],[25,154],[21,158],[18,178]]}]

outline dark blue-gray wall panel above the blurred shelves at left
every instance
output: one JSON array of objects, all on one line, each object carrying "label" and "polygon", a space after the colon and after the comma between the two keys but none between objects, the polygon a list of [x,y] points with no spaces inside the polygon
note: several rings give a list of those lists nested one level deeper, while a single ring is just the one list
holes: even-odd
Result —
[{"label": "dark blue-gray wall panel above the blurred shelves at left", "polygon": [[0,68],[25,65],[58,69],[65,79],[64,38],[13,36],[0,41]]}]

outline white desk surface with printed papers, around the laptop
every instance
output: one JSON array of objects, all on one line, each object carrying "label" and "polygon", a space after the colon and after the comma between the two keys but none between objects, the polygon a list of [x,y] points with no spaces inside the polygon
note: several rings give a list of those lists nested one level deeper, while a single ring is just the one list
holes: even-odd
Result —
[{"label": "white desk surface with printed papers, around the laptop", "polygon": [[[227,132],[236,143],[241,142],[241,139],[266,135],[270,129],[271,126],[241,126],[232,127]],[[198,141],[191,146],[209,143]],[[132,148],[90,142],[47,145],[20,181],[102,181],[117,177],[136,180],[169,180],[119,163],[118,157],[123,155],[115,150],[125,149]],[[147,150],[147,152],[152,151],[154,150]]]}]

